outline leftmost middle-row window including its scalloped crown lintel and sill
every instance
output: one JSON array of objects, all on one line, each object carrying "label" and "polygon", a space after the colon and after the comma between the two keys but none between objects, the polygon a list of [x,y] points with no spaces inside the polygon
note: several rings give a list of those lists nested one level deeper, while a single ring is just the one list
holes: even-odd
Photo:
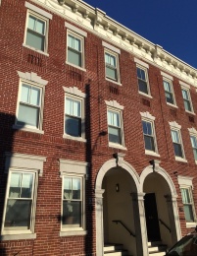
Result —
[{"label": "leftmost middle-row window including its scalloped crown lintel and sill", "polygon": [[41,132],[43,123],[43,104],[45,85],[35,73],[18,72],[21,77],[14,128]]}]

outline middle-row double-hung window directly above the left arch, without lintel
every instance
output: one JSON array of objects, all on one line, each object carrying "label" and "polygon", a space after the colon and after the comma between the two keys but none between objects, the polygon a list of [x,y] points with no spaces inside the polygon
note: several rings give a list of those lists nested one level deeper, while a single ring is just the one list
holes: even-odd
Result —
[{"label": "middle-row double-hung window directly above the left arch, without lintel", "polygon": [[108,109],[108,135],[109,142],[122,145],[122,124],[120,111]]}]

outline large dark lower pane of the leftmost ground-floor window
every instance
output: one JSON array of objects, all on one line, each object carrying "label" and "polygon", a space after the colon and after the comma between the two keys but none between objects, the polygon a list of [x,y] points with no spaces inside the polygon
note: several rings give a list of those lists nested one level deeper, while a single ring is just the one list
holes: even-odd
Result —
[{"label": "large dark lower pane of the leftmost ground-floor window", "polygon": [[8,199],[5,227],[21,226],[29,229],[31,200]]}]

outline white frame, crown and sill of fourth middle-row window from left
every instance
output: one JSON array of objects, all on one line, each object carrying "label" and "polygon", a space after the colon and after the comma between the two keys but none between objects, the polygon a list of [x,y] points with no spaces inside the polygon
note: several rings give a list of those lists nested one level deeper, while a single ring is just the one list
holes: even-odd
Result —
[{"label": "white frame, crown and sill of fourth middle-row window from left", "polygon": [[148,136],[148,135],[144,134],[144,132],[143,132],[143,123],[142,123],[142,133],[143,133],[145,154],[160,157],[160,155],[158,153],[157,137],[156,137],[156,131],[155,131],[155,116],[153,116],[149,112],[140,112],[140,114],[141,114],[141,121],[142,122],[144,121],[144,122],[147,122],[147,123],[151,124],[152,136],[150,136],[150,137],[153,138],[153,143],[154,143],[154,148],[155,148],[155,151],[150,151],[150,150],[146,149],[144,137]]}]

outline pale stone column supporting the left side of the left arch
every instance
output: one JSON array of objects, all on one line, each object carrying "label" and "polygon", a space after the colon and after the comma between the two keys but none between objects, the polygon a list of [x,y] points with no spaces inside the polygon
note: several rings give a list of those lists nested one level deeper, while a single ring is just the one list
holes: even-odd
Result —
[{"label": "pale stone column supporting the left side of the left arch", "polygon": [[95,217],[96,217],[96,255],[103,256],[103,193],[105,189],[95,189]]}]

